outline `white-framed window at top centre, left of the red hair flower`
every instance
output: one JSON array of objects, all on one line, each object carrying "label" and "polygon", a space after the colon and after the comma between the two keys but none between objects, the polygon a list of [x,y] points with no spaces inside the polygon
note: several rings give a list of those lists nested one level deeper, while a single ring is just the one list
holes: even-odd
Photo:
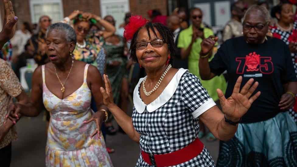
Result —
[{"label": "white-framed window at top centre, left of the red hair flower", "polygon": [[100,0],[101,16],[112,15],[116,20],[116,28],[124,23],[125,13],[130,11],[128,0]]}]

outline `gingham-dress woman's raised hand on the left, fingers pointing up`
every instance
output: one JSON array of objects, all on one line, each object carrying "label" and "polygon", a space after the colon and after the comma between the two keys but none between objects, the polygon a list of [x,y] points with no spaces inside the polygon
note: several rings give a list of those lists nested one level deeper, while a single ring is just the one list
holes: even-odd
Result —
[{"label": "gingham-dress woman's raised hand on the left, fingers pointing up", "polygon": [[104,83],[105,83],[105,89],[103,87],[100,88],[100,91],[103,95],[103,103],[107,106],[107,107],[111,107],[114,104],[114,98],[112,96],[112,91],[111,91],[111,84],[110,81],[108,79],[108,76],[103,74],[103,78],[104,78]]}]

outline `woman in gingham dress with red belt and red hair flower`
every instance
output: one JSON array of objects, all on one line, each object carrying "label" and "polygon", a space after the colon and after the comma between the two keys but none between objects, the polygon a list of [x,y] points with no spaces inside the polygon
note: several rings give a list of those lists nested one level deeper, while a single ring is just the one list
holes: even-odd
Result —
[{"label": "woman in gingham dress with red belt and red hair flower", "polygon": [[[257,92],[250,97],[258,83],[253,84],[251,79],[240,91],[242,78],[239,77],[228,99],[218,90],[223,114],[195,75],[182,68],[171,68],[174,36],[166,26],[148,22],[141,16],[132,16],[129,24],[124,35],[127,41],[133,37],[131,57],[147,73],[135,87],[132,118],[114,104],[106,75],[103,75],[106,88],[100,90],[117,123],[140,144],[142,151],[136,166],[215,166],[198,139],[198,122],[202,121],[216,138],[229,140],[241,116],[260,95]],[[129,35],[129,28],[135,26],[139,28]]]}]

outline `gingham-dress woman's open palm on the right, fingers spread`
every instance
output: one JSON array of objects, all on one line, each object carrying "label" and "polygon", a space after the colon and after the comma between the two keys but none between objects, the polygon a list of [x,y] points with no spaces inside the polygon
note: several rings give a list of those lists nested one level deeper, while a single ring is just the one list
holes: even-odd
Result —
[{"label": "gingham-dress woman's open palm on the right, fingers spread", "polygon": [[240,90],[241,82],[242,76],[239,76],[235,83],[232,95],[228,99],[225,98],[222,90],[217,89],[223,113],[225,114],[226,119],[231,120],[232,122],[238,122],[240,117],[247,112],[252,103],[260,96],[259,91],[254,96],[250,97],[259,85],[258,82],[253,84],[253,78],[248,80]]}]

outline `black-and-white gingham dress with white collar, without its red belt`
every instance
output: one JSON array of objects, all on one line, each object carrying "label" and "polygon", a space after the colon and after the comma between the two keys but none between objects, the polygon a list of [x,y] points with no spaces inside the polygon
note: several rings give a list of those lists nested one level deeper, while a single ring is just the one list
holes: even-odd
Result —
[{"label": "black-and-white gingham dress with white collar, without its red belt", "polygon": [[[140,88],[143,78],[136,88]],[[199,132],[197,117],[215,102],[201,86],[199,79],[179,69],[163,93],[151,104],[142,102],[139,89],[134,90],[132,121],[140,135],[140,148],[153,154],[166,154],[192,143]],[[177,128],[180,127],[180,128]],[[150,166],[139,156],[136,166]],[[201,154],[177,166],[215,166],[206,148]]]}]

